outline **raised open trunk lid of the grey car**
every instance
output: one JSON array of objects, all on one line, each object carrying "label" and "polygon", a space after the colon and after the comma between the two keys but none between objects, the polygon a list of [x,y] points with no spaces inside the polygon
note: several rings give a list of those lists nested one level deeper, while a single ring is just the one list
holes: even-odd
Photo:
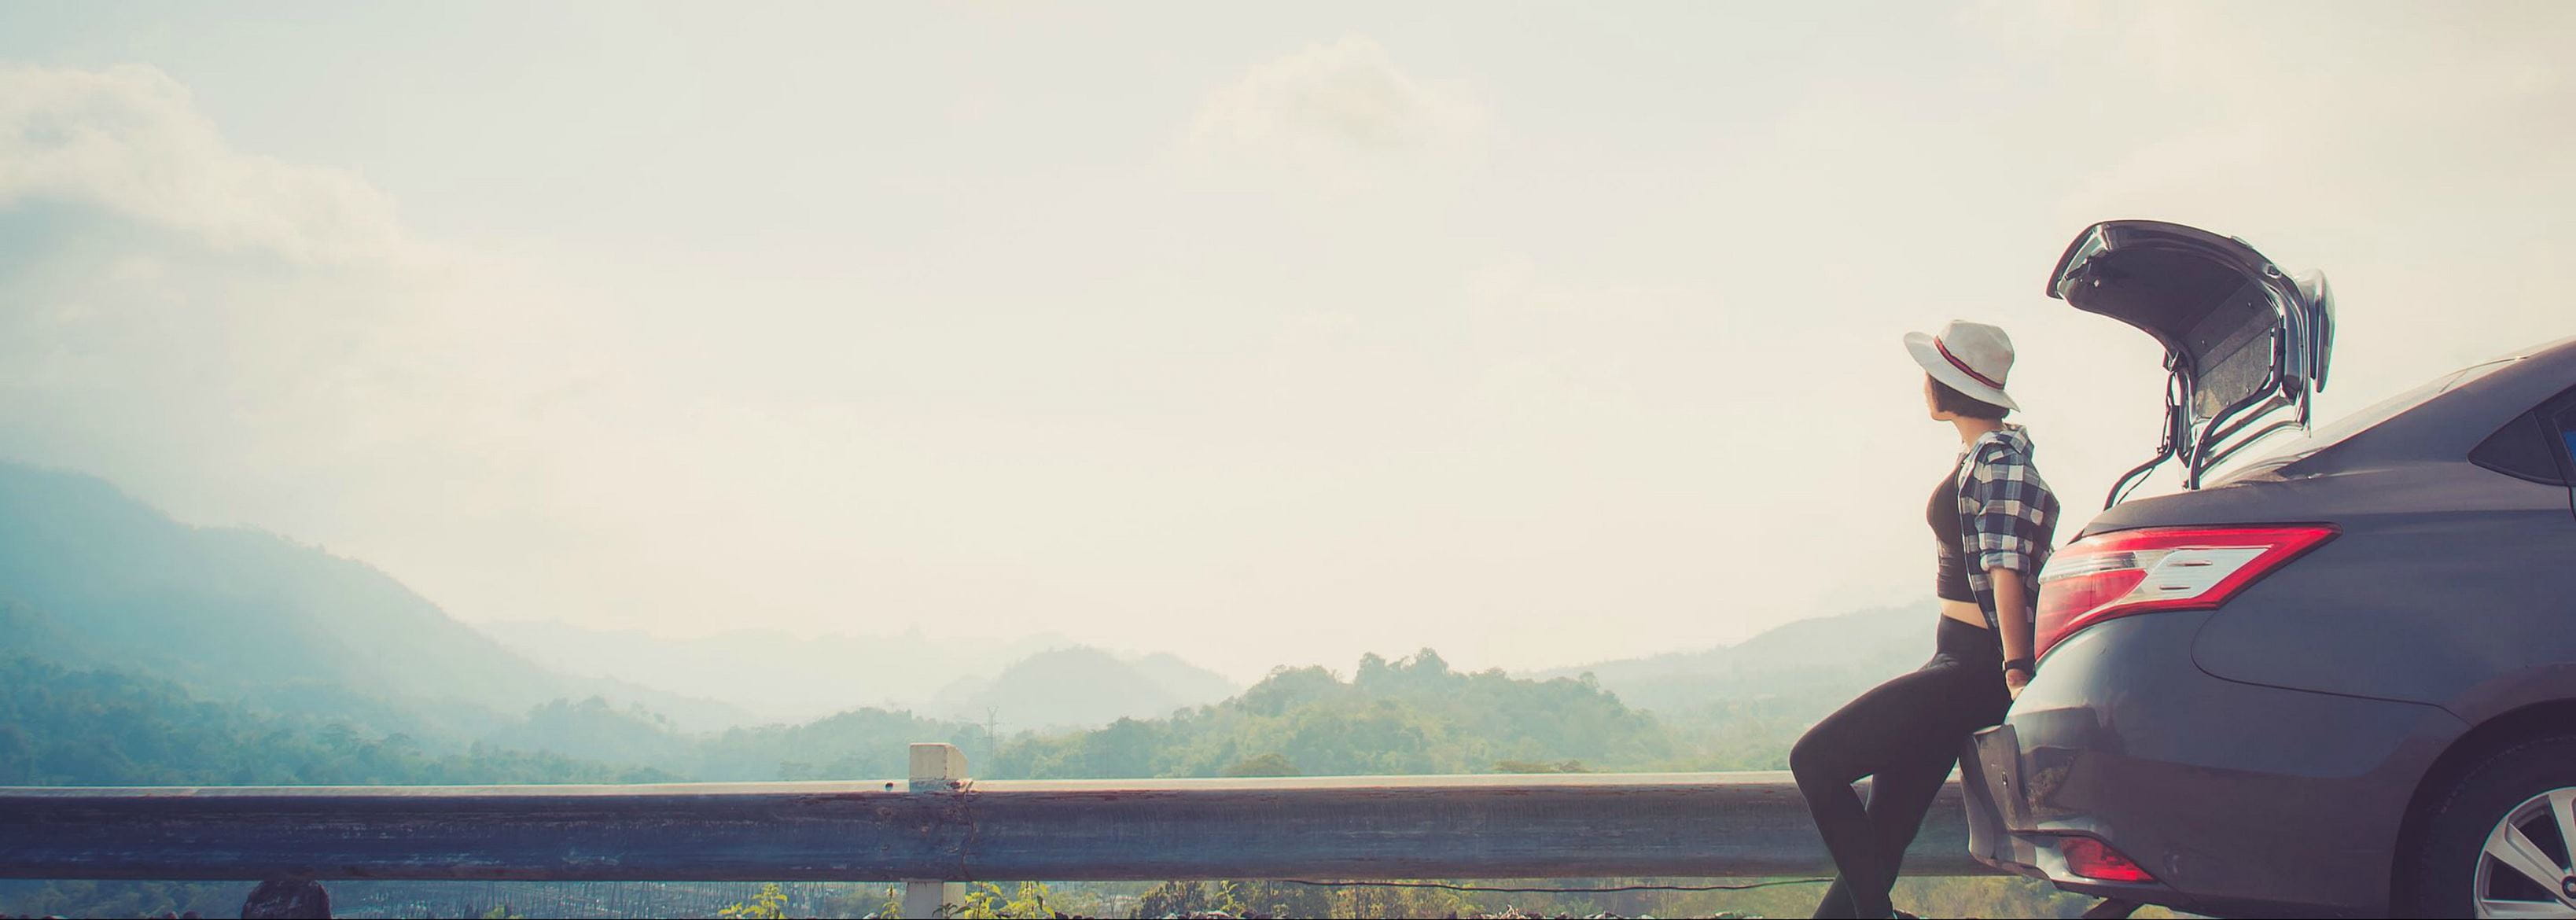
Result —
[{"label": "raised open trunk lid of the grey car", "polygon": [[2228,454],[2306,428],[2326,387],[2326,276],[2290,278],[2236,237],[2166,222],[2092,224],[2058,258],[2048,296],[2154,335],[2172,371],[2164,443],[2112,484],[2105,508],[2164,461],[2179,461],[2182,484],[2197,490]]}]

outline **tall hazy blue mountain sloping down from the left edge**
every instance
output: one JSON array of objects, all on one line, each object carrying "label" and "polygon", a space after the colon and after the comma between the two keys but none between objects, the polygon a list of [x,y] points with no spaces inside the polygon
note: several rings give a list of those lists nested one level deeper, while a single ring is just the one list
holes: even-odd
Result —
[{"label": "tall hazy blue mountain sloping down from the left edge", "polygon": [[489,716],[590,693],[690,724],[737,716],[538,667],[363,562],[185,526],[93,477],[0,464],[0,626],[10,626],[0,655],[149,673],[260,709],[376,724],[482,729]]}]

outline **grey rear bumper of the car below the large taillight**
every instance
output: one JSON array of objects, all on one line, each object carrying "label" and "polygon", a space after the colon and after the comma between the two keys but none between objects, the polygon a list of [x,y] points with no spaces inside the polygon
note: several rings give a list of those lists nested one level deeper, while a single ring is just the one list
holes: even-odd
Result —
[{"label": "grey rear bumper of the car below the large taillight", "polygon": [[[2048,652],[1963,758],[1968,848],[2061,889],[2215,915],[2385,915],[2398,825],[2442,745],[2437,706],[2221,680],[2213,613],[2148,613]],[[2094,838],[2154,881],[2066,868]]]}]

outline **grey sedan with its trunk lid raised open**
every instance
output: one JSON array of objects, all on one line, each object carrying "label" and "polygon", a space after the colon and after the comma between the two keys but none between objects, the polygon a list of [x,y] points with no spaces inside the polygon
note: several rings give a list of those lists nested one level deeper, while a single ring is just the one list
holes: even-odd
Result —
[{"label": "grey sedan with its trunk lid raised open", "polygon": [[[2427,814],[2468,801],[2499,750],[2532,760],[2532,737],[2576,732],[2576,340],[2308,430],[2336,327],[2324,276],[2239,237],[2102,222],[2048,296],[2166,348],[2164,443],[2040,575],[2038,675],[1963,758],[1971,850],[2215,915],[2473,905],[2409,889],[2496,863],[2427,856],[2486,832]],[[2277,448],[2202,487],[2257,443]],[[2123,503],[2169,461],[2182,492]],[[2576,866],[2576,832],[2545,838]],[[2576,868],[2566,889],[2576,910]]]}]

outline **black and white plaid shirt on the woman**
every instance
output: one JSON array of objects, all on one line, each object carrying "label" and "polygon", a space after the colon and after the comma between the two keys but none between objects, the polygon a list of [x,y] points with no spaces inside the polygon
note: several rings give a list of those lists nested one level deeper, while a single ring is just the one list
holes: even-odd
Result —
[{"label": "black and white plaid shirt on the woman", "polygon": [[2022,572],[2022,616],[2038,611],[2040,567],[2048,564],[2058,531],[2058,497],[2030,466],[2030,433],[2004,425],[1978,436],[1958,469],[1958,549],[1968,559],[1968,590],[1994,629],[1994,585],[1986,570]]}]

